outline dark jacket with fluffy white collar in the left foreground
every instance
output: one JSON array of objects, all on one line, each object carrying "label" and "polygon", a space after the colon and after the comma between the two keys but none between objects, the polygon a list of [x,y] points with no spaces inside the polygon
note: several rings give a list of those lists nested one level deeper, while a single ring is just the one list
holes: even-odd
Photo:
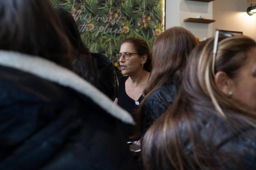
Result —
[{"label": "dark jacket with fluffy white collar in the left foreground", "polygon": [[1,170],[137,169],[117,122],[132,117],[73,72],[0,51]]}]

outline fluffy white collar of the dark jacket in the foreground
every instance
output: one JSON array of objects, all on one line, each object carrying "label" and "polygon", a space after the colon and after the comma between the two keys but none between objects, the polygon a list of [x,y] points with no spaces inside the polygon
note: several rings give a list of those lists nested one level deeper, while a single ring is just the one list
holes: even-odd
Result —
[{"label": "fluffy white collar of the dark jacket in the foreground", "polygon": [[62,86],[70,87],[88,96],[88,98],[97,103],[110,115],[123,122],[134,124],[132,116],[118,105],[115,105],[109,98],[102,94],[102,92],[83,78],[77,76],[77,74],[52,61],[17,52],[0,51],[0,65],[16,68]]}]

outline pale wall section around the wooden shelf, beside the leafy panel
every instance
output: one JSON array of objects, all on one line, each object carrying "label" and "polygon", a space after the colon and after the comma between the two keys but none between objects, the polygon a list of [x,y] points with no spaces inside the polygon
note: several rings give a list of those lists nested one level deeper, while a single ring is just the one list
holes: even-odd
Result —
[{"label": "pale wall section around the wooden shelf, beside the leafy panel", "polygon": [[196,2],[190,0],[166,0],[166,29],[182,26],[203,40],[211,37],[213,24],[183,22],[186,18],[201,15],[205,19],[213,19],[213,2]]}]

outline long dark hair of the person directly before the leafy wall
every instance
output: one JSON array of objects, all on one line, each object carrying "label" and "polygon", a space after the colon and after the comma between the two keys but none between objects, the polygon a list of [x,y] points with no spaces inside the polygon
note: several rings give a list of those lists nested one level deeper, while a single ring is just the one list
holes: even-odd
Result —
[{"label": "long dark hair of the person directly before the leafy wall", "polygon": [[73,71],[91,84],[97,84],[96,63],[92,59],[89,49],[83,43],[77,25],[72,15],[61,7],[55,7],[60,15],[60,21],[65,33],[75,50],[75,61],[73,61]]}]

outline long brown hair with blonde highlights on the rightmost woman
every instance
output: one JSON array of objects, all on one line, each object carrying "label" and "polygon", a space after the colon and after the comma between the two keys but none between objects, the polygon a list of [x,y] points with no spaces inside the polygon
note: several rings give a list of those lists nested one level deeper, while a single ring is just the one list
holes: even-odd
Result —
[{"label": "long brown hair with blonde highlights on the rightmost woman", "polygon": [[[220,41],[215,71],[222,70],[235,78],[247,61],[247,52],[254,47],[256,42],[245,36]],[[218,91],[211,72],[212,59],[213,39],[201,42],[193,50],[180,93],[143,138],[142,156],[147,170],[208,170],[244,165],[239,164],[239,158],[240,162],[235,164],[235,158],[242,154],[238,150],[219,149],[220,139],[243,133],[245,127],[255,130],[256,115]]]}]

